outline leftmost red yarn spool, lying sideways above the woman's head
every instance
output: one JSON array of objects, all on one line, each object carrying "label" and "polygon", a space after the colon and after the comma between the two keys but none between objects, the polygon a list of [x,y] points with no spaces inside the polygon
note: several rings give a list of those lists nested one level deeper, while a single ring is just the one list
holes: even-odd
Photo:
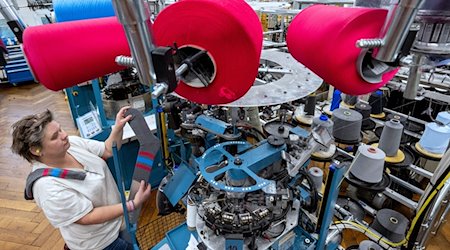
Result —
[{"label": "leftmost red yarn spool, lying sideways above the woman's head", "polygon": [[23,40],[35,79],[55,91],[122,70],[116,56],[130,55],[116,17],[33,26]]}]

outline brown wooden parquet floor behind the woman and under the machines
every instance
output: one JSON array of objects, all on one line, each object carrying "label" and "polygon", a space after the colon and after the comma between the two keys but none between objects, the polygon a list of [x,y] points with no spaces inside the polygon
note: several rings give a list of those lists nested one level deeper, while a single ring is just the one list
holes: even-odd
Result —
[{"label": "brown wooden parquet floor behind the woman and under the machines", "polygon": [[[9,149],[11,125],[25,115],[46,109],[54,112],[58,122],[69,134],[78,134],[62,92],[46,90],[37,84],[0,86],[0,250],[61,250],[64,245],[58,230],[48,223],[40,209],[32,201],[24,200],[23,190],[30,164],[13,155]],[[147,211],[152,212],[144,217],[147,222],[156,213],[154,204],[148,206],[150,209]],[[352,242],[355,238],[361,239],[361,236],[348,235],[347,238]],[[427,249],[450,249],[448,222]]]}]

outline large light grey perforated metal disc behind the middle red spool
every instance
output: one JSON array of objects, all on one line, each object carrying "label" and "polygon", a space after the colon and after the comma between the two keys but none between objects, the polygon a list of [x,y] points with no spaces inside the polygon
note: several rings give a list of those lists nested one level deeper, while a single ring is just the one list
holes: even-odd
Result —
[{"label": "large light grey perforated metal disc behind the middle red spool", "polygon": [[[273,73],[276,80],[257,79],[250,90],[238,100],[224,104],[230,107],[255,107],[286,103],[305,97],[316,91],[322,79],[297,62],[289,53],[263,50],[261,64],[269,65],[269,70],[287,73]],[[230,72],[232,73],[232,72]],[[261,76],[260,71],[260,76]],[[278,77],[281,77],[278,79]]]}]

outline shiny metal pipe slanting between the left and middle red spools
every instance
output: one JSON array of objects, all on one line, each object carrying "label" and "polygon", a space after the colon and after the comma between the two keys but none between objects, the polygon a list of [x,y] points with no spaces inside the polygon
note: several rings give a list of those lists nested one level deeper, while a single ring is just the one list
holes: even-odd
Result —
[{"label": "shiny metal pipe slanting between the left and middle red spools", "polygon": [[152,86],[156,83],[151,51],[155,48],[149,27],[150,13],[143,0],[113,0],[114,11],[123,25],[139,80]]}]

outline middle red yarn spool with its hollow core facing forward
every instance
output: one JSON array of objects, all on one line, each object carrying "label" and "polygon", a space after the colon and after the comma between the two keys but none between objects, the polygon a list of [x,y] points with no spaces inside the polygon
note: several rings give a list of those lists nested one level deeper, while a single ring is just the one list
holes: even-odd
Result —
[{"label": "middle red yarn spool with its hollow core facing forward", "polygon": [[262,27],[245,1],[176,2],[158,15],[153,31],[158,46],[176,44],[180,54],[207,51],[203,68],[208,83],[199,85],[185,78],[177,94],[198,103],[225,104],[242,97],[253,85]]}]

